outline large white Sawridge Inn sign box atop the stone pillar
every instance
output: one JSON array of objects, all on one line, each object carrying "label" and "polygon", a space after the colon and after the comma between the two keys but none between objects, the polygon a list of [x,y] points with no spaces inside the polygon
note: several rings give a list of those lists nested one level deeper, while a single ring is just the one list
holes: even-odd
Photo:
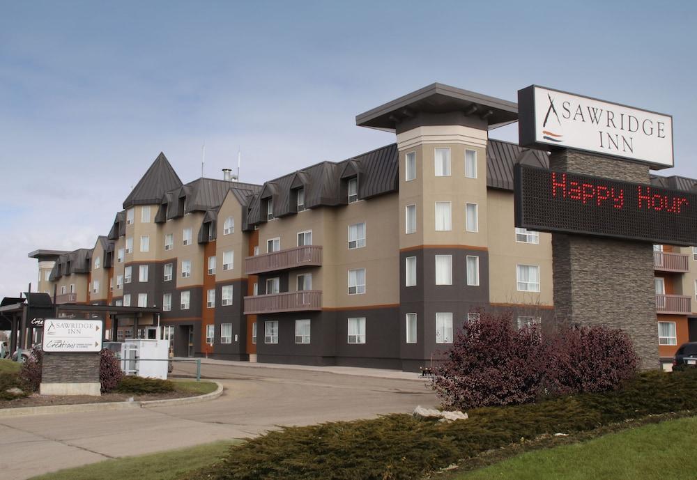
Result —
[{"label": "large white Sawridge Inn sign box atop the stone pillar", "polygon": [[595,98],[528,86],[518,91],[521,146],[574,148],[673,167],[673,117]]}]

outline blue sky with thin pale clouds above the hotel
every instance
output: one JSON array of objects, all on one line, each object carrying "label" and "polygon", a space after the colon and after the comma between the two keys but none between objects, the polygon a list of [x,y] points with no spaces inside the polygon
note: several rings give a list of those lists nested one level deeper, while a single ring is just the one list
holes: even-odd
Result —
[{"label": "blue sky with thin pale clouds above the hotel", "polygon": [[393,143],[355,116],[434,82],[671,114],[660,173],[697,178],[697,2],[566,3],[0,0],[0,297],[36,288],[30,251],[93,247],[160,151],[263,183]]}]

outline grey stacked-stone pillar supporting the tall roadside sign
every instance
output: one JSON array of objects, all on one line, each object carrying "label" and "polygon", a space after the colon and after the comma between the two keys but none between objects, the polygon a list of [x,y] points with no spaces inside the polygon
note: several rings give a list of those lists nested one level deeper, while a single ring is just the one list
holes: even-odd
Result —
[{"label": "grey stacked-stone pillar supporting the tall roadside sign", "polygon": [[[574,150],[551,154],[550,168],[650,183],[648,165]],[[642,369],[659,366],[652,245],[583,235],[552,235],[558,322],[625,330]]]}]

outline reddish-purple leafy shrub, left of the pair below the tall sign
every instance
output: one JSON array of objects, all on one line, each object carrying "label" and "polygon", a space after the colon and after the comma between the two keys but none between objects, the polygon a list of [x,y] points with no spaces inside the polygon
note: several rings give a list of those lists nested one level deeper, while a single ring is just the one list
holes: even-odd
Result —
[{"label": "reddish-purple leafy shrub, left of the pair below the tall sign", "polygon": [[458,330],[431,386],[447,407],[467,409],[533,401],[543,378],[537,327],[517,330],[511,314],[480,312]]}]

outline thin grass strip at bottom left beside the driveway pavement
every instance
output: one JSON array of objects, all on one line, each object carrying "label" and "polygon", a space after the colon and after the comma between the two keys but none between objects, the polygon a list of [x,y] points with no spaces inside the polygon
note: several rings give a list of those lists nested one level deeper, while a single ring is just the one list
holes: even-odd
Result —
[{"label": "thin grass strip at bottom left beside the driveway pavement", "polygon": [[206,467],[222,457],[233,442],[214,442],[161,454],[116,458],[84,467],[68,468],[31,480],[174,480],[185,472]]}]

